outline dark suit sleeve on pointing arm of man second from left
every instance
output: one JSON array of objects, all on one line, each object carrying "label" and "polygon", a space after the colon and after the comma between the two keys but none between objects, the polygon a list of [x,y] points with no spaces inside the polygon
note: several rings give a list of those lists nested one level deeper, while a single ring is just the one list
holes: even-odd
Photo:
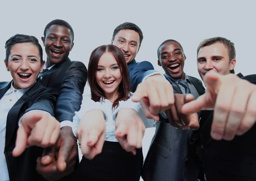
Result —
[{"label": "dark suit sleeve on pointing arm of man second from left", "polygon": [[81,62],[74,62],[65,72],[60,94],[56,103],[55,118],[73,122],[75,111],[79,111],[84,86],[87,80],[87,69]]}]

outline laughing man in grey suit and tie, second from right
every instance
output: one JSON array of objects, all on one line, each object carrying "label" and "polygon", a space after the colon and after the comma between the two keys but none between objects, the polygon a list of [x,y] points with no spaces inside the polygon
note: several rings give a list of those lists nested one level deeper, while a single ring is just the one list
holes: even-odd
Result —
[{"label": "laughing man in grey suit and tie, second from right", "polygon": [[[157,49],[157,56],[158,65],[163,67],[164,76],[172,84],[175,94],[190,93],[195,99],[204,94],[201,81],[183,72],[186,56],[180,43],[176,40],[164,41]],[[199,168],[188,155],[188,149],[194,149],[189,145],[189,130],[183,130],[181,124],[176,124],[175,120],[182,120],[182,115],[174,115],[171,109],[166,114],[160,113],[160,121],[156,124],[156,132],[143,165],[144,181],[197,180]],[[176,106],[176,109],[179,108]]]}]

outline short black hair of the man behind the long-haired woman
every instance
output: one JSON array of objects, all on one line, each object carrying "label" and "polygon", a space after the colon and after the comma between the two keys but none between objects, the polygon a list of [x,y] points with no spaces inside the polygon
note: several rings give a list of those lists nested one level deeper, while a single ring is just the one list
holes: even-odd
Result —
[{"label": "short black hair of the man behind the long-haired woman", "polygon": [[[139,26],[137,26],[134,23],[130,23],[130,22],[125,22],[125,23],[122,23],[119,26],[117,26],[116,29],[113,32],[112,40],[114,40],[116,34],[119,31],[123,30],[123,29],[130,29],[130,30],[133,30],[133,31],[137,32],[139,34],[139,37],[140,37],[140,45],[141,45],[142,40],[143,40],[143,33],[142,33],[141,29],[139,28]],[[140,48],[140,46],[139,46],[139,48]]]}]

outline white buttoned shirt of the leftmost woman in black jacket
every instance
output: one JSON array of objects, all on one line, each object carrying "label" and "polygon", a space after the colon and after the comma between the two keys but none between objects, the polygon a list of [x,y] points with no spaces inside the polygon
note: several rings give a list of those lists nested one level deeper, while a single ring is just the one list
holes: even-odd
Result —
[{"label": "white buttoned shirt of the leftmost woman in black jacket", "polygon": [[[30,88],[30,87],[29,87]],[[15,89],[12,86],[0,99],[0,181],[9,181],[9,173],[4,155],[5,138],[6,138],[6,121],[7,115],[12,106],[26,93],[29,89]]]}]

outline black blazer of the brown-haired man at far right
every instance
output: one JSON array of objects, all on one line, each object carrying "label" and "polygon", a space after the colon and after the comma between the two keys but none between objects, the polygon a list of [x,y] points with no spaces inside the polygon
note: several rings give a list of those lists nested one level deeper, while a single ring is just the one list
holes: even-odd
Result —
[{"label": "black blazer of the brown-haired man at far right", "polygon": [[[256,84],[256,75],[239,77]],[[213,111],[202,113],[199,133],[207,181],[255,181],[256,125],[232,141],[215,141],[210,136],[212,118]]]}]

